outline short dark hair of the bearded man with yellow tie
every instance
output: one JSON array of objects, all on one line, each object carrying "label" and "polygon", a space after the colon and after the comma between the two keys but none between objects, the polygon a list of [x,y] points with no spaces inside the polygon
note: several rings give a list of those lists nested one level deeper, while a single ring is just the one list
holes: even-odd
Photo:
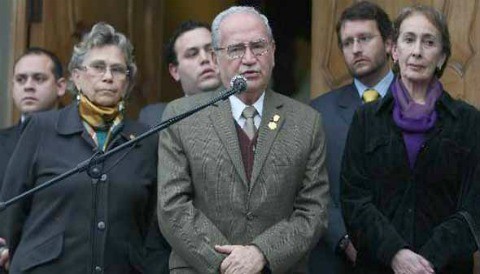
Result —
[{"label": "short dark hair of the bearded man with yellow tie", "polygon": [[392,21],[388,14],[377,4],[368,1],[356,2],[346,8],[338,19],[336,30],[338,46],[342,48],[341,29],[346,21],[355,20],[374,20],[377,23],[378,30],[383,41],[392,38],[393,27]]}]

